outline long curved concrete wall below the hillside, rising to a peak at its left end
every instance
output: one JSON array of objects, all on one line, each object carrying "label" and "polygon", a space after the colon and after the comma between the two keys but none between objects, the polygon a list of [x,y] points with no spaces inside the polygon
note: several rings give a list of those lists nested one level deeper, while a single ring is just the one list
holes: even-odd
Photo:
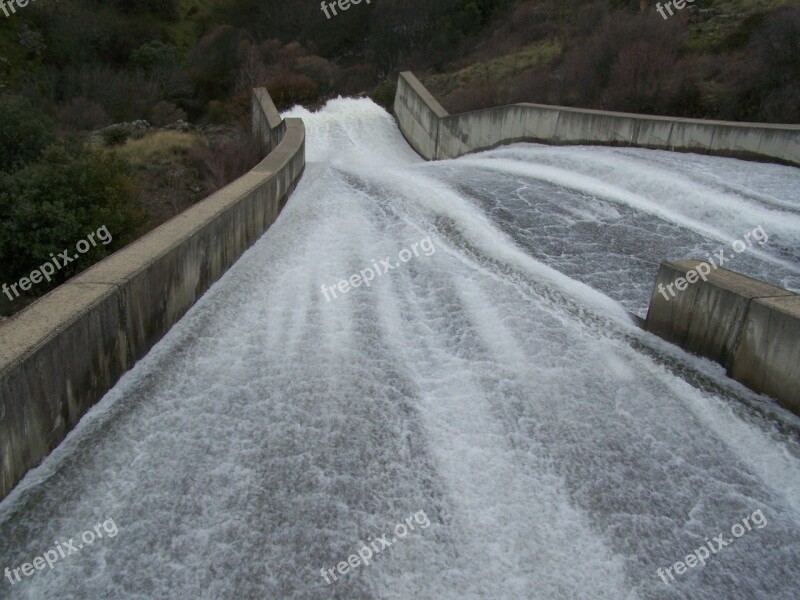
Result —
[{"label": "long curved concrete wall below the hillside, rising to a peak at its left end", "polygon": [[394,112],[411,147],[427,160],[530,141],[660,148],[800,166],[800,125],[654,117],[543,104],[450,115],[409,72],[400,74]]}]

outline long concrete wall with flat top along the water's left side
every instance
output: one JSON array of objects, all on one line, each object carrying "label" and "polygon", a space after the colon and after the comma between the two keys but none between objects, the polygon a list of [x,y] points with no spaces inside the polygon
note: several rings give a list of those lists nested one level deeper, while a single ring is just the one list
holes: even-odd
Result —
[{"label": "long concrete wall with flat top along the water's left side", "polygon": [[275,221],[305,129],[266,90],[253,127],[271,152],[249,173],[0,326],[0,499]]}]

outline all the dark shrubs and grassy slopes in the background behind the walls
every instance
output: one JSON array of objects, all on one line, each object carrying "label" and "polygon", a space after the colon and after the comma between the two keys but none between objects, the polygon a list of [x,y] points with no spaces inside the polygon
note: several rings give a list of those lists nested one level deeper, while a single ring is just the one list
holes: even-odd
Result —
[{"label": "all the dark shrubs and grassy slopes in the background behind the walls", "polygon": [[[118,247],[255,164],[256,86],[280,109],[342,94],[388,110],[411,69],[453,112],[800,122],[797,2],[697,0],[666,21],[654,4],[375,0],[327,19],[313,0],[38,0],[0,29],[0,279],[91,227]],[[194,126],[120,124],[139,120]]]}]

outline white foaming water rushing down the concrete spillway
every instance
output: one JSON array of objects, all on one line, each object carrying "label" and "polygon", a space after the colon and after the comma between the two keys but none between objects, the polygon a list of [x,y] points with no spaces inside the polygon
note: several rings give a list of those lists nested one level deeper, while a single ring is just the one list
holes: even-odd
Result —
[{"label": "white foaming water rushing down the concrete spillway", "polygon": [[277,223],[0,504],[0,569],[116,535],[0,597],[797,597],[799,420],[629,316],[660,260],[722,248],[800,288],[797,169],[424,163],[367,100],[291,116],[308,166]]}]

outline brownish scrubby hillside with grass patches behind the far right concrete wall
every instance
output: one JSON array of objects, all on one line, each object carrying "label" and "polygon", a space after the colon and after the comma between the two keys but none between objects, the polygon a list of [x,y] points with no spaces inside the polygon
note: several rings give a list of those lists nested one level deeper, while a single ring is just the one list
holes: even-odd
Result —
[{"label": "brownish scrubby hillside with grass patches behind the far right concrete wall", "polygon": [[666,20],[644,0],[637,10],[548,4],[498,16],[465,57],[428,70],[425,84],[454,112],[527,101],[800,122],[796,2],[697,2]]}]

